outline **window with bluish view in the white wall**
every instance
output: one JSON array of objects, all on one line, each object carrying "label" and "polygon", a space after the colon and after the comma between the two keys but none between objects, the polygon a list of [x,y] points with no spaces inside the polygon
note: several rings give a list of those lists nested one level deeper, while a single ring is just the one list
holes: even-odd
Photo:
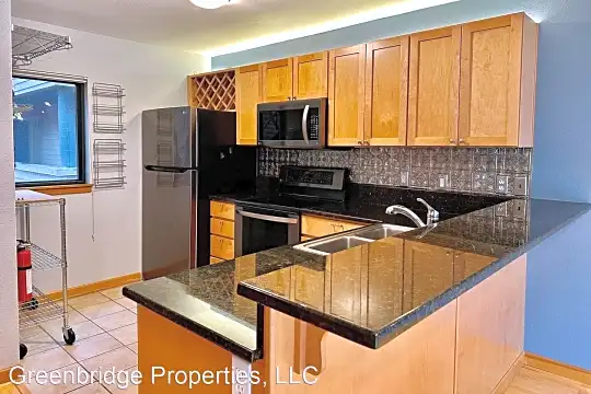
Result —
[{"label": "window with bluish view in the white wall", "polygon": [[13,74],[16,186],[85,182],[84,83]]}]

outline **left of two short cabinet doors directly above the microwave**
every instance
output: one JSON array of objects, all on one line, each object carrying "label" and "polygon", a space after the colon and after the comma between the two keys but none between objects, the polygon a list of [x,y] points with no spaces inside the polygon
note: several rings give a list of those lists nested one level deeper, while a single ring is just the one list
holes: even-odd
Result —
[{"label": "left of two short cabinet doors directly above the microwave", "polygon": [[291,58],[263,63],[263,101],[274,103],[292,97],[293,61]]}]

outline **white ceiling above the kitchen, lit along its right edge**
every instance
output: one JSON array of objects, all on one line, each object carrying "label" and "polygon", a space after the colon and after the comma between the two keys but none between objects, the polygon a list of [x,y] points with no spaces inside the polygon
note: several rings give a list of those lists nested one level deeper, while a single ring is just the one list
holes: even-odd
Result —
[{"label": "white ceiling above the kitchen, lit along its right edge", "polygon": [[12,15],[215,56],[455,0],[12,0]]}]

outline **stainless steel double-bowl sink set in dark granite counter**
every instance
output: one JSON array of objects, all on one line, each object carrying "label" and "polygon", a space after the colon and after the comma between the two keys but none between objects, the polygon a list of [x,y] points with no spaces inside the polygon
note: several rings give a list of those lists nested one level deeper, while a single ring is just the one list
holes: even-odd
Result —
[{"label": "stainless steel double-bowl sink set in dark granite counter", "polygon": [[293,246],[297,250],[328,256],[333,253],[382,240],[402,232],[415,230],[404,225],[375,224],[369,228],[347,231],[317,241],[308,241]]}]

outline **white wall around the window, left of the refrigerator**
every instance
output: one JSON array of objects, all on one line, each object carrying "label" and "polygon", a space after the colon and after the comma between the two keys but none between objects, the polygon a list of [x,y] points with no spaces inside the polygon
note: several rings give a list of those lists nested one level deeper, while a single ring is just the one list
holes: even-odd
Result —
[{"label": "white wall around the window, left of the refrigerator", "polygon": [[[89,79],[88,104],[93,82],[116,83],[126,90],[127,185],[120,190],[95,190],[93,195],[67,197],[67,247],[69,286],[80,286],[139,273],[141,267],[141,112],[186,105],[186,76],[210,69],[210,59],[183,51],[132,43],[86,32],[21,19],[13,23],[69,35],[73,48],[34,60],[31,69],[83,76]],[[86,128],[93,138],[117,138],[92,132],[92,111]],[[89,146],[91,146],[89,141]],[[92,150],[89,150],[89,155]],[[89,176],[92,176],[89,173]],[[90,178],[89,181],[92,181]],[[32,240],[59,252],[58,210],[37,208],[32,215]],[[94,235],[94,237],[93,237]],[[59,273],[37,275],[39,288],[56,290]]]}]

